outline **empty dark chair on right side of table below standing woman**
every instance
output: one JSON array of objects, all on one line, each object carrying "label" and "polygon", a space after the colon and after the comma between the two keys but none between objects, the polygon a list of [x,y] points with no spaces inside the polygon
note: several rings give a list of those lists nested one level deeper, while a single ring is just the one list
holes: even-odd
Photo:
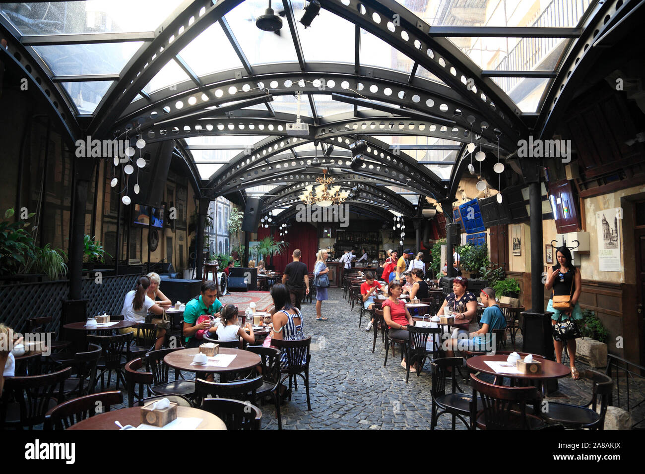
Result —
[{"label": "empty dark chair on right side of table below standing woman", "polygon": [[[613,380],[608,375],[595,370],[585,370],[584,377],[593,380],[591,400],[582,405],[549,402],[548,410],[542,413],[542,418],[549,423],[562,424],[566,428],[604,430],[604,419],[613,390]],[[600,413],[597,412],[599,405]]]}]

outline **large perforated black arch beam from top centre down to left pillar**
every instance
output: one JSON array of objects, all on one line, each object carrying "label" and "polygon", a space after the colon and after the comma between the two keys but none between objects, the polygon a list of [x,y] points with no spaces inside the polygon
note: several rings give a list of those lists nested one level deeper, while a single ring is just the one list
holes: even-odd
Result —
[{"label": "large perforated black arch beam from top centre down to left pillar", "polygon": [[141,46],[128,61],[121,74],[121,81],[112,84],[104,95],[94,121],[90,124],[90,135],[109,138],[115,121],[161,68],[208,26],[219,21],[242,1],[221,0],[213,5],[212,0],[195,0],[184,10],[175,10],[157,28],[152,43]]}]

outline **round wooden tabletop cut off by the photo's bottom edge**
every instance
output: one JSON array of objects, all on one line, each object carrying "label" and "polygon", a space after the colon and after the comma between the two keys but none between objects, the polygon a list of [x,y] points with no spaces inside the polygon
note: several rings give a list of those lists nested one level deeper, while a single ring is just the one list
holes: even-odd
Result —
[{"label": "round wooden tabletop cut off by the photo's bottom edge", "polygon": [[[212,413],[188,406],[177,407],[177,417],[179,418],[201,418],[202,422],[197,426],[197,430],[226,430],[226,425]],[[67,428],[68,430],[119,430],[115,424],[118,421],[123,426],[131,424],[137,427],[141,424],[141,407],[133,406],[132,408],[121,408],[121,410],[106,411],[99,415],[94,415],[77,424]]]}]

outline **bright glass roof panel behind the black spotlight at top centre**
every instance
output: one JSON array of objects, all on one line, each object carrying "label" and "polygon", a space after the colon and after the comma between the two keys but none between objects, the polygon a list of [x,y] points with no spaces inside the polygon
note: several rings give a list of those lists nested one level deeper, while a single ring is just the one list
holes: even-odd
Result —
[{"label": "bright glass roof panel behind the black spotlight at top centre", "polygon": [[[353,63],[355,26],[344,18],[321,8],[320,14],[312,21],[310,28],[300,23],[304,1],[292,2],[298,26],[298,37],[303,47],[304,60],[313,63]],[[333,35],[328,35],[333,32]],[[325,35],[321,47],[321,35]]]}]

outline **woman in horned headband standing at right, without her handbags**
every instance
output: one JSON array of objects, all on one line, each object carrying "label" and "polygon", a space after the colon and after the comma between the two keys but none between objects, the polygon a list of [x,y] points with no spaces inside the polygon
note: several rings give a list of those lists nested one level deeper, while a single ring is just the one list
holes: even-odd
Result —
[{"label": "woman in horned headband standing at right, without her handbags", "polygon": [[[571,264],[571,252],[566,247],[560,247],[555,251],[558,264],[549,268],[549,274],[546,277],[546,289],[553,290],[555,296],[571,295],[571,304],[573,309],[570,311],[560,311],[553,308],[553,296],[546,307],[547,311],[552,311],[551,324],[556,324],[558,319],[566,321],[567,319],[582,319],[582,310],[578,299],[582,291],[582,279],[579,270]],[[571,377],[575,380],[580,378],[578,370],[575,368],[575,339],[567,341],[567,350],[569,353]],[[564,344],[561,341],[553,339],[553,348],[555,348],[555,359],[559,364],[562,363],[562,349]]]}]

